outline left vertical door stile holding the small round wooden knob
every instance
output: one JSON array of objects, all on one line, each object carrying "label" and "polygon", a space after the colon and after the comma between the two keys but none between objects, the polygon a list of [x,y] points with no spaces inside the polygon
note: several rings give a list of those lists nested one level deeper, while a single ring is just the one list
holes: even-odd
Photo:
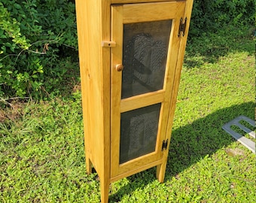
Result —
[{"label": "left vertical door stile holding the small round wooden knob", "polygon": [[120,98],[122,71],[115,65],[122,64],[123,58],[123,6],[111,7],[111,41],[116,47],[111,48],[111,177],[118,174],[120,151]]}]

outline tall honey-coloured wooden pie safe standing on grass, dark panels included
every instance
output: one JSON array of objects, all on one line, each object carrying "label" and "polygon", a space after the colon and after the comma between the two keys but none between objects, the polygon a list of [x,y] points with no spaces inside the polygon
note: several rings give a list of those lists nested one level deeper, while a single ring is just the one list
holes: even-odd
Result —
[{"label": "tall honey-coloured wooden pie safe standing on grass, dark panels included", "polygon": [[163,182],[193,0],[76,0],[87,172]]}]

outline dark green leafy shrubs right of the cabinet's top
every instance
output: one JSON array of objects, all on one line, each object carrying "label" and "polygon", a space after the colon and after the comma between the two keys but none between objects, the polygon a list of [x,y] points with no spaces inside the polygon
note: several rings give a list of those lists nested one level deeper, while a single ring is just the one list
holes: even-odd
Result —
[{"label": "dark green leafy shrubs right of the cabinet's top", "polygon": [[194,0],[190,38],[202,32],[216,32],[224,26],[253,26],[253,0]]}]

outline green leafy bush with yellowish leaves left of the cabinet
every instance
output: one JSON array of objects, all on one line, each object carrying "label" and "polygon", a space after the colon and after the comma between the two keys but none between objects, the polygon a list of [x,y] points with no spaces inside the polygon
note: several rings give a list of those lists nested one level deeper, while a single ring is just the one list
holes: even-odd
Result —
[{"label": "green leafy bush with yellowish leaves left of the cabinet", "polygon": [[77,50],[75,5],[68,0],[3,0],[0,46],[0,97],[38,97],[50,91],[49,77],[66,72],[59,66],[60,51]]}]

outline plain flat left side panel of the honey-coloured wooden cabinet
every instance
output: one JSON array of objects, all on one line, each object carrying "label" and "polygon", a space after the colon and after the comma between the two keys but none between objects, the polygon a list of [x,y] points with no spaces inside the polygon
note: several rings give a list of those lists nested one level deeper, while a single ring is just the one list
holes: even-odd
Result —
[{"label": "plain flat left side panel of the honey-coloured wooden cabinet", "polygon": [[99,176],[104,171],[108,173],[105,165],[109,164],[105,163],[105,159],[109,160],[110,143],[110,56],[109,50],[101,46],[102,40],[107,40],[109,36],[109,31],[106,30],[109,29],[109,14],[108,10],[102,9],[106,6],[104,4],[108,5],[99,0],[76,0],[84,144],[86,156],[93,162]]}]

